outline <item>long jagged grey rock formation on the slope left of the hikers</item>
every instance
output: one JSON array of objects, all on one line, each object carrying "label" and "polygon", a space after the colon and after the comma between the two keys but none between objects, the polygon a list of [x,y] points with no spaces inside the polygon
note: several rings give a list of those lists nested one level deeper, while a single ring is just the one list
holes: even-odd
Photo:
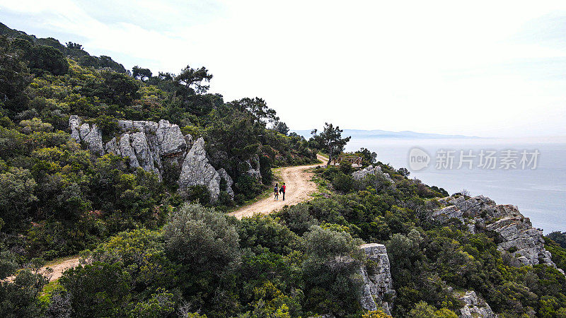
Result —
[{"label": "long jagged grey rock formation on the slope left of the hikers", "polygon": [[[209,163],[204,139],[193,143],[192,136],[183,136],[178,125],[163,119],[159,122],[118,120],[118,126],[122,135],[103,145],[102,132],[96,125],[82,124],[76,115],[69,118],[71,137],[84,143],[96,155],[114,153],[127,157],[130,167],[155,172],[159,179],[162,179],[166,166],[175,165],[180,167],[174,177],[181,190],[192,185],[204,185],[212,201],[218,199],[222,178],[226,181],[226,192],[233,197],[233,180],[226,170],[216,171]],[[258,156],[246,163],[249,165],[248,174],[260,179]]]}]

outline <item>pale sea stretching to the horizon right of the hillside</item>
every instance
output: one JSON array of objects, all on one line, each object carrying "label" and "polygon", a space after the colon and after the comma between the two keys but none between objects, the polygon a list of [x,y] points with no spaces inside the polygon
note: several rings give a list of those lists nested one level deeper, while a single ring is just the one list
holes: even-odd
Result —
[{"label": "pale sea stretching to the horizon right of the hillside", "polygon": [[[362,147],[375,151],[381,163],[396,169],[407,167],[410,178],[444,188],[449,194],[465,189],[472,196],[483,194],[497,204],[517,206],[533,226],[543,229],[545,234],[566,231],[566,139],[563,137],[390,139],[352,136],[346,151]],[[423,156],[429,157],[424,167]]]}]

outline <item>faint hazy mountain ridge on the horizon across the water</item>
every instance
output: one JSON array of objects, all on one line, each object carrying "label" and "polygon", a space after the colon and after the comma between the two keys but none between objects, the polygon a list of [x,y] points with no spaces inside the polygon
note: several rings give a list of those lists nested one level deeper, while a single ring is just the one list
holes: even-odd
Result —
[{"label": "faint hazy mountain ridge on the horizon across the water", "polygon": [[[311,137],[310,130],[291,130],[306,139]],[[415,131],[386,131],[386,130],[363,130],[363,129],[344,129],[342,136],[352,136],[355,139],[369,138],[393,138],[393,139],[479,139],[476,136],[464,135],[443,135],[443,134],[424,134]]]}]

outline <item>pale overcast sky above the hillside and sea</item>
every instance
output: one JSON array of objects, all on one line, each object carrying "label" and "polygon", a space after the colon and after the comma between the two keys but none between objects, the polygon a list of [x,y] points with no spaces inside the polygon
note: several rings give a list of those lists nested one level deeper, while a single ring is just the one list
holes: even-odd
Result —
[{"label": "pale overcast sky above the hillside and sea", "polygon": [[127,69],[206,66],[291,129],[566,135],[566,1],[0,0],[0,21]]}]

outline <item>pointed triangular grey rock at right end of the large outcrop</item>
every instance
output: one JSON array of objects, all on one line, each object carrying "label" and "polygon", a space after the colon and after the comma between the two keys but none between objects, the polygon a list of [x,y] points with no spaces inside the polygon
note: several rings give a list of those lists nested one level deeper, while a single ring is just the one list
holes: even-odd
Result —
[{"label": "pointed triangular grey rock at right end of the large outcrop", "polygon": [[183,167],[179,177],[180,189],[202,185],[207,187],[210,199],[216,201],[220,194],[220,174],[207,159],[204,151],[204,139],[200,138],[190,148],[189,153],[183,161]]}]

